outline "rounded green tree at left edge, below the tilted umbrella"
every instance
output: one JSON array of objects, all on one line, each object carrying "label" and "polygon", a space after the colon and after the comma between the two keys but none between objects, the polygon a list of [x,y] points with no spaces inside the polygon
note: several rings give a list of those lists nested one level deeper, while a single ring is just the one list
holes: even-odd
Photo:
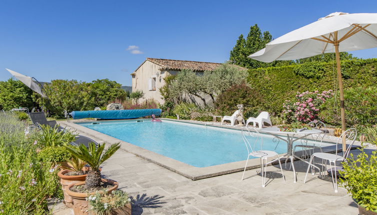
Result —
[{"label": "rounded green tree at left edge, below the tilted umbrella", "polygon": [[19,80],[9,78],[7,81],[0,81],[0,109],[9,110],[14,107],[34,106],[33,91]]}]

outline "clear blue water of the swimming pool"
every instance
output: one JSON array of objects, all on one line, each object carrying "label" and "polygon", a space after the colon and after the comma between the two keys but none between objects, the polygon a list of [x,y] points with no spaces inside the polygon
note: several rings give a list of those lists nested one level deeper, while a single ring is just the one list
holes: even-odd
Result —
[{"label": "clear blue water of the swimming pool", "polygon": [[[78,124],[196,167],[247,158],[240,130],[149,119]],[[273,136],[263,134],[262,137],[263,150],[274,150]],[[275,151],[286,150],[286,143],[280,141]]]}]

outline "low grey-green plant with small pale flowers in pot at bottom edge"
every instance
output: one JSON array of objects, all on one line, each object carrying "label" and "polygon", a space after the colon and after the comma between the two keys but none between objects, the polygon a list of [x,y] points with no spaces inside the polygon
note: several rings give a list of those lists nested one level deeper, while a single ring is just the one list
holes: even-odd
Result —
[{"label": "low grey-green plant with small pale flowers in pot at bottom edge", "polygon": [[89,215],[131,215],[131,199],[120,189],[97,191],[87,197]]}]

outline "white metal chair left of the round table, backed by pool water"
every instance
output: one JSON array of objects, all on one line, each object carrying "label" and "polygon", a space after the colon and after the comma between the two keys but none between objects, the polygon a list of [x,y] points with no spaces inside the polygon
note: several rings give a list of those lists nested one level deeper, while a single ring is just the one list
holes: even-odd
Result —
[{"label": "white metal chair left of the round table, backed by pool water", "polygon": [[[261,169],[260,173],[262,175],[262,187],[265,186],[267,164],[272,163],[276,160],[279,161],[281,175],[282,175],[282,178],[285,182],[285,177],[284,177],[284,174],[282,172],[282,167],[281,167],[279,155],[275,151],[263,150],[263,138],[260,135],[260,133],[253,127],[243,127],[242,130],[241,130],[241,134],[242,134],[242,139],[243,139],[243,141],[246,145],[246,148],[247,148],[247,159],[246,159],[245,168],[243,169],[243,174],[242,174],[241,180],[243,180],[243,176],[245,174],[248,158],[250,156],[254,156],[254,157],[260,158],[260,169]],[[249,138],[253,139],[252,145],[250,144]],[[276,149],[276,147],[275,147],[275,149]],[[276,158],[267,162],[267,158],[269,158],[269,157],[276,157]]]}]

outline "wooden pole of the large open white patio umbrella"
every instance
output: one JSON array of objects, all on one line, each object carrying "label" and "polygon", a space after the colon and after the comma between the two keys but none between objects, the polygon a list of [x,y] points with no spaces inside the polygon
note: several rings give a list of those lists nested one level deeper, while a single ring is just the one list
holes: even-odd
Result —
[{"label": "wooden pole of the large open white patio umbrella", "polygon": [[[343,82],[341,78],[340,71],[340,55],[339,55],[339,43],[334,43],[335,47],[335,57],[336,57],[336,70],[337,70],[337,80],[339,82],[339,92],[340,92],[340,117],[341,117],[341,133],[345,131],[345,113],[344,113],[344,93],[343,93]],[[342,138],[342,148],[343,151],[346,150],[345,145],[345,135]]]}]

